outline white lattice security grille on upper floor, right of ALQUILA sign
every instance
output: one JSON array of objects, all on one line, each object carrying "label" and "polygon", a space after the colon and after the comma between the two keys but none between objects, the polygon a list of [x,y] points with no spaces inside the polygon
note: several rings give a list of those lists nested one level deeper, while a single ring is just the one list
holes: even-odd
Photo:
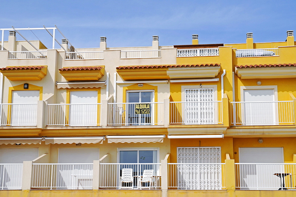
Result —
[{"label": "white lattice security grille on upper floor, right of ALQUILA sign", "polygon": [[214,122],[214,89],[185,89],[186,124],[210,124]]}]

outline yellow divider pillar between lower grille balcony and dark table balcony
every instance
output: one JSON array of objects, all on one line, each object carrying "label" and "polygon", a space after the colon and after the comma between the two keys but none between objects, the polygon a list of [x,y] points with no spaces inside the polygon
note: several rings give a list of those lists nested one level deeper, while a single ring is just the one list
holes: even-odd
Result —
[{"label": "yellow divider pillar between lower grille balcony and dark table balcony", "polygon": [[235,165],[234,159],[230,159],[229,154],[226,153],[225,159],[225,179],[226,190],[235,190]]}]

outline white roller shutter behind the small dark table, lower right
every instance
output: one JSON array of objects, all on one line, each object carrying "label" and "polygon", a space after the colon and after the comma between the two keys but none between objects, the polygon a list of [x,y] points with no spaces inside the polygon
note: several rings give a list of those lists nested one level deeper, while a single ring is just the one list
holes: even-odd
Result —
[{"label": "white roller shutter behind the small dark table, lower right", "polygon": [[[282,147],[239,148],[240,183],[243,189],[268,190],[280,188],[280,178],[275,173],[284,173],[284,152]],[[267,163],[267,164],[258,164]],[[279,164],[275,164],[279,163]]]}]

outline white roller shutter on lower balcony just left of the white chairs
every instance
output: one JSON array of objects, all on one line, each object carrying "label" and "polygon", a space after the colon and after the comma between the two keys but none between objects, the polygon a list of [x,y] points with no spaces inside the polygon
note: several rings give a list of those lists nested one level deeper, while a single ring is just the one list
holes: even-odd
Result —
[{"label": "white roller shutter on lower balcony just left of the white chairs", "polygon": [[99,160],[99,148],[59,148],[58,187],[92,189],[94,160]]}]

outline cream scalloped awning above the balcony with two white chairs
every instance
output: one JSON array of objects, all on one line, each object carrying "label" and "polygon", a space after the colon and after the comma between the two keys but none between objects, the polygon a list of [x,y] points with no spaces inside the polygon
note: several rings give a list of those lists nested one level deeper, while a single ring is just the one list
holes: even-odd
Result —
[{"label": "cream scalloped awning above the balcony with two white chairs", "polygon": [[108,135],[108,143],[163,142],[165,135]]}]

